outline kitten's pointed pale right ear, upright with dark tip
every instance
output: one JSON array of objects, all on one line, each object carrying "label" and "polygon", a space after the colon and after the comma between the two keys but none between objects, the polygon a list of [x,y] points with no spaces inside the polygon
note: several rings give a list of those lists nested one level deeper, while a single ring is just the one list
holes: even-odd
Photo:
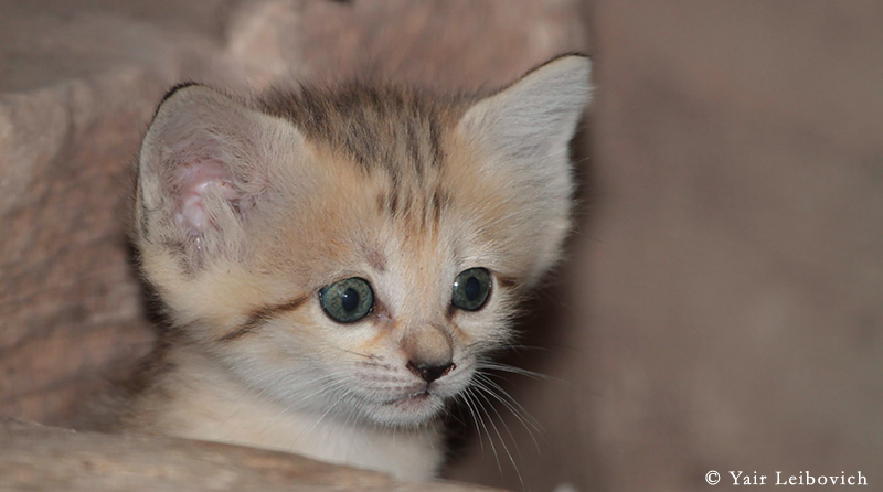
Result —
[{"label": "kitten's pointed pale right ear, upright with dark tip", "polygon": [[555,58],[469,108],[459,133],[485,150],[481,163],[500,177],[519,207],[520,243],[533,255],[532,284],[557,260],[571,227],[570,141],[591,100],[586,56]]}]

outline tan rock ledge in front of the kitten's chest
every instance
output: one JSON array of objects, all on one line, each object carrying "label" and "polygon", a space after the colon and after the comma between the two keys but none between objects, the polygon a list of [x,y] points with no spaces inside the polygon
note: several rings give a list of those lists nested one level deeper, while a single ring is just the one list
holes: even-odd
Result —
[{"label": "tan rock ledge in front of the kitten's chest", "polygon": [[397,482],[383,473],[241,446],[76,432],[10,419],[0,419],[0,490],[493,491],[450,482]]}]

